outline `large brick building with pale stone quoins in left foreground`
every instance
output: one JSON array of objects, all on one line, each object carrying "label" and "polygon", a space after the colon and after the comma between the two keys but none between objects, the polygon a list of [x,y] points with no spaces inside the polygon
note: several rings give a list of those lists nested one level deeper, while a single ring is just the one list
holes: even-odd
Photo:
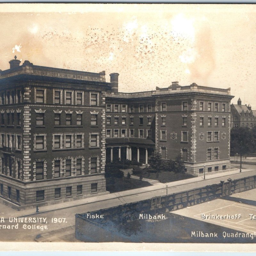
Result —
[{"label": "large brick building with pale stone quoins in left foreground", "polygon": [[106,192],[110,88],[105,71],[20,66],[16,59],[0,71],[1,198],[42,205]]}]

